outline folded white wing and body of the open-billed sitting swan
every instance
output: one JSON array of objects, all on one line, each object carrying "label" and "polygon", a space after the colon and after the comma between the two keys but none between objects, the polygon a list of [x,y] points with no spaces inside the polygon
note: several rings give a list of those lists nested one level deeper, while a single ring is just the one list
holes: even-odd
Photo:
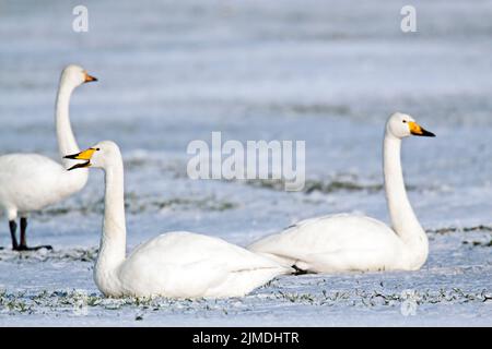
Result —
[{"label": "folded white wing and body of the open-billed sitting swan", "polygon": [[145,293],[179,298],[226,297],[245,294],[289,272],[221,239],[172,232],[139,246],[121,266],[120,279],[137,294],[144,288]]}]

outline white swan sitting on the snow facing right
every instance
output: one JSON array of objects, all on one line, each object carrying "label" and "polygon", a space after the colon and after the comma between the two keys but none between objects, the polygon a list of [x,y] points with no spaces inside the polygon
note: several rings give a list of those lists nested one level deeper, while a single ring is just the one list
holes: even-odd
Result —
[{"label": "white swan sitting on the snow facing right", "polygon": [[325,216],[301,221],[248,250],[307,273],[419,269],[427,257],[429,241],[408,201],[400,163],[401,140],[411,134],[434,136],[408,115],[389,117],[383,152],[393,228],[370,217]]}]

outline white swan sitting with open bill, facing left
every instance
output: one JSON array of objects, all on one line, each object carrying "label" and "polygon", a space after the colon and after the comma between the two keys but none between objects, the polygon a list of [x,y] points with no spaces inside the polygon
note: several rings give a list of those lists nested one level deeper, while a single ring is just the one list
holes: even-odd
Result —
[{"label": "white swan sitting with open bill, facing left", "polygon": [[126,257],[124,165],[118,146],[104,141],[67,158],[74,168],[105,171],[103,234],[94,268],[98,289],[109,297],[239,297],[292,268],[221,239],[176,231],[161,234]]}]

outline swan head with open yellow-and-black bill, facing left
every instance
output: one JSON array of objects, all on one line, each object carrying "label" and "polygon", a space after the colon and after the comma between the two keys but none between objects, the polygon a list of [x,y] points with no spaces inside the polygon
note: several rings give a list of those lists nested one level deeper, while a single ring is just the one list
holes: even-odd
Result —
[{"label": "swan head with open yellow-and-black bill, facing left", "polygon": [[121,153],[115,142],[103,141],[80,153],[67,155],[65,158],[83,160],[83,163],[79,163],[70,167],[68,169],[69,171],[75,168],[85,167],[108,168],[114,165],[115,161],[120,161]]}]

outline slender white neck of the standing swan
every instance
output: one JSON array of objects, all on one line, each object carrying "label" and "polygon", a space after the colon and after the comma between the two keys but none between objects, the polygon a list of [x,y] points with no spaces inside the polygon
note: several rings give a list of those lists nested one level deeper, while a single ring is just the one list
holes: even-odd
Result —
[{"label": "slender white neck of the standing swan", "polygon": [[[77,154],[80,152],[75,136],[72,132],[69,117],[70,97],[75,87],[77,86],[62,77],[60,80],[56,101],[55,123],[57,129],[58,151],[66,168],[69,166],[70,160],[63,159],[63,157],[66,155]],[[86,170],[82,170],[82,172],[86,172]]]}]

